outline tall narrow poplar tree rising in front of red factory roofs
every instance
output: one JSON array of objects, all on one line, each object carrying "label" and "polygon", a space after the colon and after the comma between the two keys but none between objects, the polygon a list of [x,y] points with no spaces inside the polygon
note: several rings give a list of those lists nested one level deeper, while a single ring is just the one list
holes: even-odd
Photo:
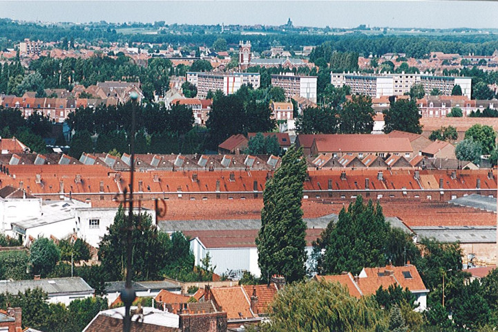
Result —
[{"label": "tall narrow poplar tree rising in front of red factory roofs", "polygon": [[305,177],[303,149],[292,146],[266,183],[261,229],[256,238],[258,265],[264,279],[276,274],[294,282],[305,276],[306,223],[301,210]]}]

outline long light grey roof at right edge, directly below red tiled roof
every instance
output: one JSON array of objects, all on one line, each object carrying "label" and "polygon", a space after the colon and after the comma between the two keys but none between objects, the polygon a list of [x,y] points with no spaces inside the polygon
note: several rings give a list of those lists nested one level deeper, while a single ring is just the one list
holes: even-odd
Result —
[{"label": "long light grey roof at right edge, directly below red tiled roof", "polygon": [[496,243],[496,227],[491,226],[421,226],[412,227],[418,237],[441,242]]}]

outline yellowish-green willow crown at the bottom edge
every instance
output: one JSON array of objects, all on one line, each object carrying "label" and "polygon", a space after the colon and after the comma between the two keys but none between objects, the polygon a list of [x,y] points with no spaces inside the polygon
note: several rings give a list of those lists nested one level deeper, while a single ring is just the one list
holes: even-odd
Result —
[{"label": "yellowish-green willow crown at the bottom edge", "polygon": [[300,282],[286,286],[270,305],[263,332],[385,331],[387,320],[372,297],[356,299],[346,288],[327,282]]}]

